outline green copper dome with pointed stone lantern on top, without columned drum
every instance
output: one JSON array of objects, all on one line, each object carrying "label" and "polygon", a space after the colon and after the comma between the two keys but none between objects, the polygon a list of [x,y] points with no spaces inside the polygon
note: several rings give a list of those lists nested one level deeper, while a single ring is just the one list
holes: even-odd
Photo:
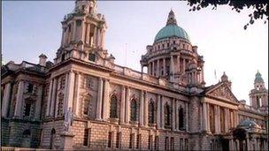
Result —
[{"label": "green copper dome with pointed stone lantern on top, without columned drum", "polygon": [[187,32],[181,28],[181,26],[178,26],[172,10],[169,12],[166,26],[158,32],[155,36],[154,42],[158,42],[159,40],[169,37],[178,37],[190,42]]}]

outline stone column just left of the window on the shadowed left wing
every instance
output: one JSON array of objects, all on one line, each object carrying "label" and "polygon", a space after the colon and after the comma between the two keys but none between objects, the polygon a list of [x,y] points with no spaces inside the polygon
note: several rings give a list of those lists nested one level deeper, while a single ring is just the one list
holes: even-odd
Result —
[{"label": "stone column just left of the window on the shadowed left wing", "polygon": [[17,93],[17,99],[16,99],[16,105],[15,105],[15,117],[21,117],[22,116],[22,108],[23,108],[23,92],[24,92],[24,81],[19,81],[19,87],[18,87],[18,93]]}]

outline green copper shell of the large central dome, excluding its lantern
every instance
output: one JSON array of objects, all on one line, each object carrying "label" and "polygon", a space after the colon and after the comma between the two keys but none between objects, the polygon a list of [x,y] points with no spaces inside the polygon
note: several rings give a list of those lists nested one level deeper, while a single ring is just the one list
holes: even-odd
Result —
[{"label": "green copper shell of the large central dome, excluding its lantern", "polygon": [[169,37],[179,37],[190,42],[187,32],[181,28],[181,26],[177,25],[167,25],[163,27],[155,36],[154,42],[158,42],[159,40]]}]

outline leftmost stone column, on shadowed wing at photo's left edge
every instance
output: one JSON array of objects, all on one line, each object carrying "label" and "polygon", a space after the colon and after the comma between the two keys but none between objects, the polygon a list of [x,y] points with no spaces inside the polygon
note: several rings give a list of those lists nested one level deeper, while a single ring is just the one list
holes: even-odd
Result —
[{"label": "leftmost stone column, on shadowed wing at photo's left edge", "polygon": [[11,98],[11,90],[12,90],[12,84],[11,84],[11,82],[9,82],[4,86],[2,117],[7,117],[7,112],[9,109],[9,102],[10,102],[10,98]]}]

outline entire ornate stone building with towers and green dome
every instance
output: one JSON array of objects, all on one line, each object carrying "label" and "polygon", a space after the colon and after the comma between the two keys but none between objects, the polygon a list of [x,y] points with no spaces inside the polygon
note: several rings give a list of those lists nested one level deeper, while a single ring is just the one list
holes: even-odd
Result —
[{"label": "entire ornate stone building with towers and green dome", "polygon": [[[54,63],[41,55],[39,64],[11,61],[2,66],[3,146],[268,148],[268,91],[260,73],[250,106],[236,99],[225,73],[219,83],[205,87],[203,56],[173,11],[142,55],[147,73],[114,64],[104,48],[107,26],[96,1],[76,1],[62,26]],[[67,136],[68,109],[73,122]]]}]

